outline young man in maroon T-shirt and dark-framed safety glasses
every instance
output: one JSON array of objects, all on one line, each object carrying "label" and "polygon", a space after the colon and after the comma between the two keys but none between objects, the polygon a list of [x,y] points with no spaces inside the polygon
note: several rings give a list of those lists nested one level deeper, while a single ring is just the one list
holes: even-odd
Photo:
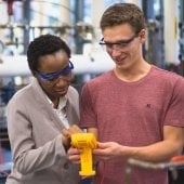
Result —
[{"label": "young man in maroon T-shirt and dark-framed safety glasses", "polygon": [[[116,66],[83,87],[80,126],[98,139],[94,184],[124,184],[128,158],[162,162],[181,153],[184,79],[143,58],[145,19],[135,4],[109,6],[101,29]],[[78,162],[80,152],[70,148],[69,159]],[[168,183],[166,170],[133,169],[131,176],[132,184]]]}]

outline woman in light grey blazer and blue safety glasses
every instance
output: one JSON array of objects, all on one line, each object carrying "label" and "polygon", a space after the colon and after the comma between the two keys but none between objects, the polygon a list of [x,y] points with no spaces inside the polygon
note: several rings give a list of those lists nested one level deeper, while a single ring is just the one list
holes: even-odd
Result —
[{"label": "woman in light grey blazer and blue safety glasses", "polygon": [[79,96],[70,86],[73,63],[68,45],[43,35],[27,51],[34,75],[8,106],[8,130],[13,154],[6,184],[77,184],[78,167],[66,156],[69,139],[62,131],[78,132]]}]

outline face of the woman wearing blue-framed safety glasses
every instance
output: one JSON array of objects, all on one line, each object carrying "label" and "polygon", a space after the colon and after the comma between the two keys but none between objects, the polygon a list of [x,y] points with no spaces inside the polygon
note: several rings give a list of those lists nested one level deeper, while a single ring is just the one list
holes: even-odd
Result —
[{"label": "face of the woman wearing blue-framed safety glasses", "polygon": [[64,51],[43,55],[39,58],[36,77],[51,100],[64,96],[71,81],[73,64]]}]

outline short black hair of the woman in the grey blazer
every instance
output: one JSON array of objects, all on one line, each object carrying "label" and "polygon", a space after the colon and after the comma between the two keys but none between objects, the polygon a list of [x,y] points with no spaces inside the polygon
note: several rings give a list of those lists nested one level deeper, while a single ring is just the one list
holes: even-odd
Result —
[{"label": "short black hair of the woman in the grey blazer", "polygon": [[63,50],[70,57],[70,49],[60,37],[53,35],[41,35],[30,42],[27,50],[27,61],[32,75],[38,69],[40,56],[52,54]]}]

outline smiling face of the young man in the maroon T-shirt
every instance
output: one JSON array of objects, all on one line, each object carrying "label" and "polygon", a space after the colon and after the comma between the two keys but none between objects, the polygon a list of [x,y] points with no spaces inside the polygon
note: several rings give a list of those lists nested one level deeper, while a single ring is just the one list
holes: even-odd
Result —
[{"label": "smiling face of the young man in the maroon T-shirt", "polygon": [[143,35],[145,30],[135,34],[129,24],[121,24],[105,28],[101,44],[105,45],[117,68],[130,69],[142,56]]}]

